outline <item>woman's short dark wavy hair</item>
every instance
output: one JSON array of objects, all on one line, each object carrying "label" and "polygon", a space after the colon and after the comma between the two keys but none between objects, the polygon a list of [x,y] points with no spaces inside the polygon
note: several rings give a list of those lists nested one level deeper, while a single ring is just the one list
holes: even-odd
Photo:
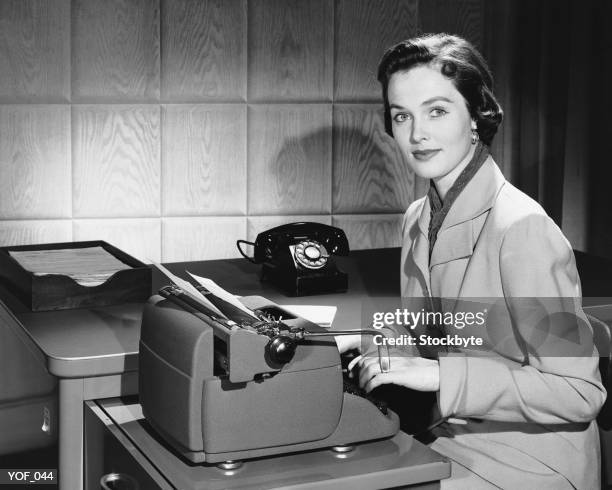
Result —
[{"label": "woman's short dark wavy hair", "polygon": [[501,123],[503,112],[493,95],[493,77],[487,63],[468,41],[449,34],[426,34],[408,39],[388,49],[378,65],[385,104],[385,130],[393,136],[387,88],[391,76],[417,65],[435,65],[449,78],[467,102],[476,121],[480,140],[490,145]]}]

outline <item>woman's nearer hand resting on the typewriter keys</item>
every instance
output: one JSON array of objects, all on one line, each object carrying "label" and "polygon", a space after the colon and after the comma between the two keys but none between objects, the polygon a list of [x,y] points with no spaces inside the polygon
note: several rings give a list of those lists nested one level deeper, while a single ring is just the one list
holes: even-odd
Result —
[{"label": "woman's nearer hand resting on the typewriter keys", "polygon": [[388,372],[383,373],[378,356],[359,356],[351,361],[349,370],[359,368],[359,386],[366,392],[383,384],[396,384],[417,391],[440,389],[440,365],[422,357],[392,357]]}]

